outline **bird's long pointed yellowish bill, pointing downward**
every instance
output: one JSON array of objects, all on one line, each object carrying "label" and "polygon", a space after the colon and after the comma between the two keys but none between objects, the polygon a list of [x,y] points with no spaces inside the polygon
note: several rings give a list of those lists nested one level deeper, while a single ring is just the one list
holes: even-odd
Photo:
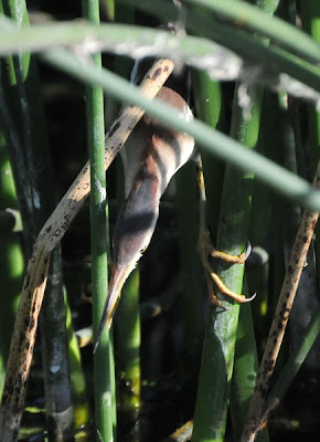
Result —
[{"label": "bird's long pointed yellowish bill, pointing downward", "polygon": [[113,318],[121,295],[121,290],[122,286],[127,280],[127,277],[129,276],[130,272],[132,271],[132,266],[131,265],[126,265],[126,266],[118,266],[118,265],[114,265],[113,266],[113,272],[111,272],[111,277],[110,277],[110,282],[109,282],[109,288],[108,288],[108,296],[106,299],[106,304],[104,307],[104,312],[103,312],[103,316],[100,319],[100,324],[99,324],[99,328],[97,332],[97,336],[95,338],[95,343],[94,343],[94,352],[96,351],[103,330],[106,326],[106,324],[108,324],[108,327],[110,328],[111,324],[113,324]]}]

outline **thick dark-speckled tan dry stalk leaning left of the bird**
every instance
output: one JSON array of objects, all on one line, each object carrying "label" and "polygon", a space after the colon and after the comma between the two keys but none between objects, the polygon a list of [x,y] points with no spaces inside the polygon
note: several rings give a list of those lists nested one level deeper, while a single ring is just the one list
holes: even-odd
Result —
[{"label": "thick dark-speckled tan dry stalk leaning left of the bird", "polygon": [[[156,62],[145,76],[141,92],[152,99],[172,70],[173,63],[170,60]],[[108,169],[143,113],[145,110],[137,106],[126,107],[113,124],[106,135],[106,169]],[[33,254],[24,276],[7,367],[0,409],[0,440],[2,442],[13,442],[18,438],[51,252],[67,231],[89,191],[89,164],[87,162],[45,222],[35,241]]]}]

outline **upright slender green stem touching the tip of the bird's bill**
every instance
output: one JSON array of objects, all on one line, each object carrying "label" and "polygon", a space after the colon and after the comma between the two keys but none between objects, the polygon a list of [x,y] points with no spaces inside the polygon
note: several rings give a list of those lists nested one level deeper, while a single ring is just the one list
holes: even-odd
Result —
[{"label": "upright slender green stem touching the tip of the bird's bill", "polygon": [[[93,23],[99,23],[98,0],[83,0],[84,17]],[[93,56],[96,66],[102,66],[102,56]],[[92,228],[92,281],[93,281],[93,320],[94,334],[103,314],[108,287],[108,223],[106,206],[105,173],[105,124],[104,95],[100,87],[86,87],[87,138],[90,159],[90,228]],[[111,340],[108,327],[105,327],[100,344],[94,356],[95,378],[95,423],[97,441],[114,440],[115,422],[114,402],[114,366]]]}]

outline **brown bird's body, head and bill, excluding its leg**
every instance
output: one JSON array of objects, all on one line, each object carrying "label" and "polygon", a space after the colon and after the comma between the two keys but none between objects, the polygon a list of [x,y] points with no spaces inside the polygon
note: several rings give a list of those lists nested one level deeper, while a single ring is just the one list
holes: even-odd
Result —
[{"label": "brown bird's body, head and bill, excluding its leg", "polygon": [[[157,97],[175,107],[182,118],[193,118],[186,102],[172,88],[163,86]],[[167,129],[147,115],[121,150],[126,202],[113,239],[113,271],[95,349],[104,326],[111,324],[125,281],[150,243],[162,193],[173,175],[194,156],[191,136]]]}]

